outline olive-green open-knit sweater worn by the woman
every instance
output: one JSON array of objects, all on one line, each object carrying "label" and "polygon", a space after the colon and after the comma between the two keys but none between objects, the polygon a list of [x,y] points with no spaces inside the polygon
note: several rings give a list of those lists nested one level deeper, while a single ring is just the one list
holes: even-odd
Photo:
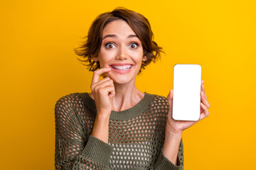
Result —
[{"label": "olive-green open-knit sweater worn by the woman", "polygon": [[132,108],[112,111],[108,144],[91,135],[97,108],[87,93],[55,104],[55,169],[183,169],[183,142],[177,165],[164,157],[169,103],[147,94]]}]

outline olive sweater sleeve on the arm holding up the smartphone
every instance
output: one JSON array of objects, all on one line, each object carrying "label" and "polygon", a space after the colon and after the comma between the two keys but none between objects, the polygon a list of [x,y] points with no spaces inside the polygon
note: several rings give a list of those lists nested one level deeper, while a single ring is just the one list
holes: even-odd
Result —
[{"label": "olive sweater sleeve on the arm holding up the smartphone", "polygon": [[159,154],[158,159],[156,160],[156,164],[154,164],[155,170],[183,170],[183,142],[181,139],[180,145],[178,147],[178,157],[177,157],[177,165],[173,164],[166,157],[164,157],[163,149]]}]

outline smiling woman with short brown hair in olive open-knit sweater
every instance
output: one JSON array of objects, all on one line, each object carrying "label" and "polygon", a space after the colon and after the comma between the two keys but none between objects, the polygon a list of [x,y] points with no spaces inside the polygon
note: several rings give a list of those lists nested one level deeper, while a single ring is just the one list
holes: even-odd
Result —
[{"label": "smiling woman with short brown hair in olive open-knit sweater", "polygon": [[183,169],[182,132],[206,118],[210,104],[202,81],[201,118],[176,121],[172,89],[167,98],[137,89],[137,74],[161,52],[152,39],[139,13],[116,8],[97,16],[76,50],[94,71],[92,93],[55,105],[56,169]]}]

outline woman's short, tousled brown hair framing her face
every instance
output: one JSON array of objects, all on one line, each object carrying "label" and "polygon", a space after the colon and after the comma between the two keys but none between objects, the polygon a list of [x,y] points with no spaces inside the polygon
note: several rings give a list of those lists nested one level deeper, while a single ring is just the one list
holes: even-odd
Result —
[{"label": "woman's short, tousled brown hair framing her face", "polygon": [[146,55],[147,60],[142,61],[142,67],[139,69],[139,73],[142,72],[142,69],[145,69],[145,66],[150,62],[159,60],[160,52],[163,52],[162,47],[159,47],[156,42],[154,42],[154,34],[149,21],[140,13],[136,13],[127,8],[118,7],[112,12],[102,13],[97,16],[92,26],[90,26],[88,35],[85,37],[87,38],[85,43],[81,47],[75,48],[75,54],[85,59],[78,60],[89,62],[89,64],[84,65],[89,66],[87,69],[89,68],[90,71],[94,72],[96,69],[100,68],[100,62],[93,61],[92,57],[97,57],[100,52],[103,29],[107,26],[107,23],[119,19],[126,21],[142,42],[143,56]]}]

